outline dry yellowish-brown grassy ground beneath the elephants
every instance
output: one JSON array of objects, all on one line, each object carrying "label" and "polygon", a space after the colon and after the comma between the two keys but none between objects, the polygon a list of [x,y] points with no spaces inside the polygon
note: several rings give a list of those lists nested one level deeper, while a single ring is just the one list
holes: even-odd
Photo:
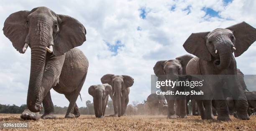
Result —
[{"label": "dry yellowish-brown grassy ground beneath the elephants", "polygon": [[[232,122],[201,120],[199,116],[189,116],[186,119],[166,119],[166,116],[122,116],[95,118],[92,115],[82,115],[75,119],[66,119],[58,115],[54,120],[28,121],[29,130],[240,130],[256,131],[256,116],[249,121],[241,121],[233,116]],[[2,122],[26,122],[19,114],[0,114]],[[27,129],[23,129],[27,130]]]}]

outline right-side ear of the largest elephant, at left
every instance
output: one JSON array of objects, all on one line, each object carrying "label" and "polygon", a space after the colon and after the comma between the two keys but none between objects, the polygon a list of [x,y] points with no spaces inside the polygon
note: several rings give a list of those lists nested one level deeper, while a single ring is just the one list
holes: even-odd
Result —
[{"label": "right-side ear of the largest elephant, at left", "polygon": [[58,23],[59,33],[54,40],[54,55],[63,55],[84,43],[86,30],[82,23],[67,15],[58,15]]}]

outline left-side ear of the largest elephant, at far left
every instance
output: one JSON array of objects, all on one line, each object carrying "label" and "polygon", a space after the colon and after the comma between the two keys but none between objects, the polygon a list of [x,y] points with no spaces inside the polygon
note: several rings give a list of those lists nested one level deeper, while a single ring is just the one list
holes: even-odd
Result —
[{"label": "left-side ear of the largest elephant, at far left", "polygon": [[26,20],[30,11],[23,10],[12,13],[6,18],[3,33],[13,43],[13,47],[19,52],[23,52],[25,40],[28,35],[28,29],[26,28]]}]

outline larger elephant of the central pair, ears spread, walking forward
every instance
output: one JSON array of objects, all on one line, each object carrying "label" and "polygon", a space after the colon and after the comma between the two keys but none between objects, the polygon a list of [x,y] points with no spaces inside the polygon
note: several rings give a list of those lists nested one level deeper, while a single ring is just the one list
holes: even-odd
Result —
[{"label": "larger elephant of the central pair, ears spread, walking forward", "polygon": [[110,116],[123,116],[129,102],[130,87],[134,79],[127,75],[106,74],[100,79],[102,84],[108,83],[112,86],[110,98],[113,100],[115,114]]}]

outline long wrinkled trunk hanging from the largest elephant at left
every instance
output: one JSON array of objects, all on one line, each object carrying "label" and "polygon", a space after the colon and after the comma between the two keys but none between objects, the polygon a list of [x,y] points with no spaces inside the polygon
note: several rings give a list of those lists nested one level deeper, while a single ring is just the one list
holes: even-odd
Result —
[{"label": "long wrinkled trunk hanging from the largest elephant at left", "polygon": [[44,46],[31,47],[31,70],[28,85],[27,106],[32,112],[42,109],[41,103],[44,95],[41,88],[44,74],[46,49]]}]

